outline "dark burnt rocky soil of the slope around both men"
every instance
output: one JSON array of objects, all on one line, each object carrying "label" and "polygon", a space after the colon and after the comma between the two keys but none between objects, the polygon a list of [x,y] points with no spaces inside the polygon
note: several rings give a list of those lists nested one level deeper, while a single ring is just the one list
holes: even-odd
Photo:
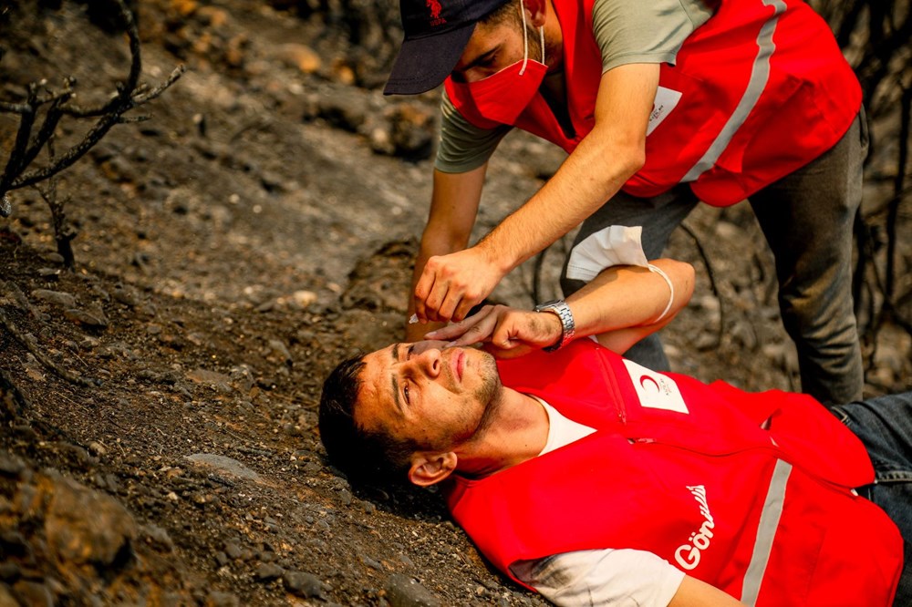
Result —
[{"label": "dark burnt rocky soil of the slope around both men", "polygon": [[[70,74],[87,99],[113,89],[124,39],[83,13],[24,3],[3,16],[5,94]],[[316,433],[327,371],[399,339],[435,95],[352,86],[322,26],[258,3],[150,0],[140,31],[144,79],[187,72],[149,121],[62,174],[75,269],[36,190],[14,191],[0,219],[0,605],[542,604],[482,561],[433,491],[352,489]],[[15,126],[0,114],[0,149]],[[58,146],[80,129],[65,121]],[[876,129],[870,204],[888,188],[896,118]],[[561,159],[511,135],[478,234]],[[687,227],[669,255],[699,283],[665,331],[675,369],[794,388],[748,206],[701,208]],[[899,291],[909,262],[905,236]],[[530,262],[494,297],[530,306],[533,277]],[[910,353],[896,324],[866,341],[868,393],[910,386]]]}]

